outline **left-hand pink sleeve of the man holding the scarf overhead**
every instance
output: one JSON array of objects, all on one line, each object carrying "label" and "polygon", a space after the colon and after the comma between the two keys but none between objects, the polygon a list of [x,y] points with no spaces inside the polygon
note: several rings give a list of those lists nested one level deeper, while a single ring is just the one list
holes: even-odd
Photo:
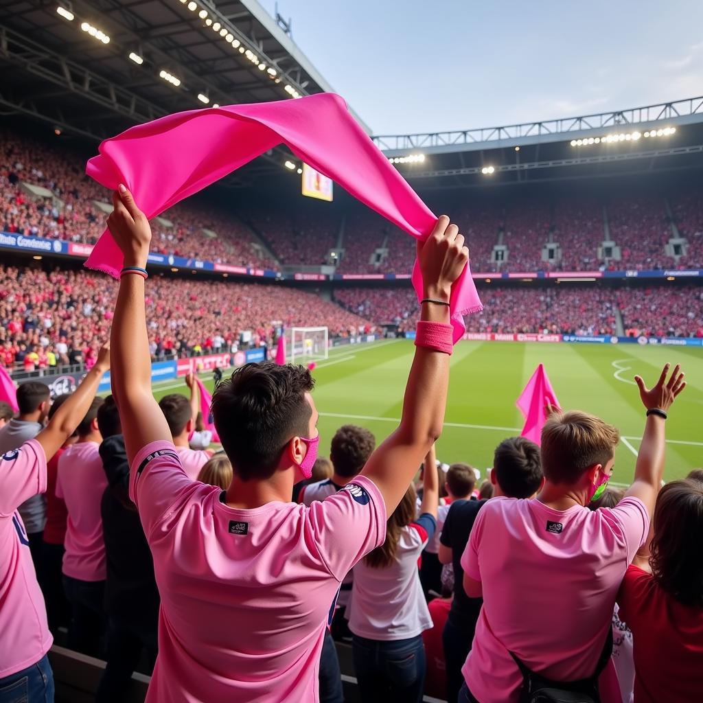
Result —
[{"label": "left-hand pink sleeve of the man holding the scarf overhead", "polygon": [[129,467],[129,498],[139,511],[147,539],[169,508],[198,486],[202,484],[188,478],[183,470],[172,442],[151,442],[138,451]]}]

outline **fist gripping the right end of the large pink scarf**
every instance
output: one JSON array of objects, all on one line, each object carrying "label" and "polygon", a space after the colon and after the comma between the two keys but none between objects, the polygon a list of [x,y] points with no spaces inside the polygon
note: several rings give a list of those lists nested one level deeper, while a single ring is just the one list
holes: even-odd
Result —
[{"label": "fist gripping the right end of the large pink scarf", "polygon": [[418,260],[423,273],[424,295],[449,302],[451,286],[469,260],[464,237],[449,217],[442,215],[425,242],[418,242]]}]

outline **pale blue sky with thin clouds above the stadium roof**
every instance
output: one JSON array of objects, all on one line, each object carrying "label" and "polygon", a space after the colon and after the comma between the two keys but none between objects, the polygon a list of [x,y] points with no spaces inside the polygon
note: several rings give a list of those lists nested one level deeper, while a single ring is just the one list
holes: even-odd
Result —
[{"label": "pale blue sky with thin clouds above the stadium roof", "polygon": [[[273,15],[275,0],[259,0]],[[278,0],[374,134],[703,95],[703,0]]]}]

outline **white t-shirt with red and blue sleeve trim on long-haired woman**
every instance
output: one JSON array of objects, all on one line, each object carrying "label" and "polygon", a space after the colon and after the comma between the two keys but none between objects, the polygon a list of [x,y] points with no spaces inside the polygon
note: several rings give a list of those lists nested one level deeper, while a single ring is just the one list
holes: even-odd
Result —
[{"label": "white t-shirt with red and blue sleeve trim on long-haired woman", "polygon": [[406,640],[432,627],[418,559],[436,525],[432,515],[423,513],[418,522],[402,529],[392,565],[371,567],[362,560],[354,567],[347,617],[355,635],[369,640]]}]

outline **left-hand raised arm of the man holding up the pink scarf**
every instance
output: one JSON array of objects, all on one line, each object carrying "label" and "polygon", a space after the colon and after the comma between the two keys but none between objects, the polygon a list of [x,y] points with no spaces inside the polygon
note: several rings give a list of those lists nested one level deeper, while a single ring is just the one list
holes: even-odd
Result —
[{"label": "left-hand raised arm of the man holding up the pink scarf", "polygon": [[[110,232],[124,254],[124,266],[146,269],[151,228],[131,193],[120,186],[112,194],[115,209],[108,217]],[[146,333],[144,279],[136,273],[120,278],[112,319],[112,394],[120,408],[122,433],[131,463],[150,442],[171,441],[171,432],[151,392],[151,359]]]}]

